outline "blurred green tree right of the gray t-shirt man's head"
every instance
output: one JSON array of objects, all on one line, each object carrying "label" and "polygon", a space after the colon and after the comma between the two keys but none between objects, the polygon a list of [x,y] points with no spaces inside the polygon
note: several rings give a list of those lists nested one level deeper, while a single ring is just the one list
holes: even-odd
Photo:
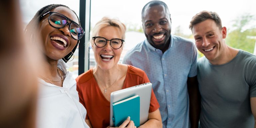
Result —
[{"label": "blurred green tree right of the gray t-shirt man's head", "polygon": [[233,21],[233,28],[229,29],[226,44],[230,47],[253,53],[255,47],[256,27],[255,17],[245,14]]}]

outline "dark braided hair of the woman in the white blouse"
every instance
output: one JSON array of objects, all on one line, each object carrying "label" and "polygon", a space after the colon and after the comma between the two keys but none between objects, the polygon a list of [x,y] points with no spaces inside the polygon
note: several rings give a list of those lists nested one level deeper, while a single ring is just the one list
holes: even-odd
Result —
[{"label": "dark braided hair of the woman in the white blouse", "polygon": [[[39,22],[43,19],[43,15],[51,10],[53,10],[54,8],[57,8],[59,6],[63,6],[63,7],[66,7],[68,9],[70,9],[69,7],[65,6],[65,5],[62,5],[62,4],[50,4],[50,5],[47,5],[43,8],[41,8],[40,10],[37,11],[36,15],[32,18],[32,20],[28,23],[28,25],[26,26],[25,28],[25,35],[28,35],[28,37],[32,37],[33,36],[33,33],[32,33],[32,30],[37,28]],[[71,9],[70,9],[71,10]],[[71,10],[73,11],[73,10]],[[73,11],[74,12],[74,11]],[[74,12],[75,13],[75,12]],[[76,15],[76,13],[75,13]],[[79,22],[79,25],[80,25],[80,21],[79,21],[79,18],[78,16],[76,15],[77,19],[78,19],[78,22]],[[67,63],[67,61],[71,58],[72,56],[72,52],[74,53],[77,46],[79,44],[79,40],[77,41],[74,49],[68,53],[64,58],[62,58],[62,60]]]}]

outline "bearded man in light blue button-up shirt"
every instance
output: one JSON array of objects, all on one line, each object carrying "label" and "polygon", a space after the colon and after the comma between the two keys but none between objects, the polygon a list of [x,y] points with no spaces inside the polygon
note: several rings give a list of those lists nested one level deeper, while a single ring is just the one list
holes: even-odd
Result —
[{"label": "bearded man in light blue button-up shirt", "polygon": [[162,1],[144,6],[142,24],[147,40],[130,50],[123,63],[147,73],[160,104],[163,128],[189,128],[190,121],[192,128],[198,128],[200,96],[194,44],[171,35],[171,15]]}]

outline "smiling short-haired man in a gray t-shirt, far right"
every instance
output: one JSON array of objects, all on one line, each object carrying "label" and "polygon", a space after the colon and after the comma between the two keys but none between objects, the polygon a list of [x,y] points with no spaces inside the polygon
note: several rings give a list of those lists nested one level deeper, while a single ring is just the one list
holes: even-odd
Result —
[{"label": "smiling short-haired man in a gray t-shirt, far right", "polygon": [[225,44],[217,13],[202,11],[190,22],[198,61],[200,128],[256,128],[256,56]]}]

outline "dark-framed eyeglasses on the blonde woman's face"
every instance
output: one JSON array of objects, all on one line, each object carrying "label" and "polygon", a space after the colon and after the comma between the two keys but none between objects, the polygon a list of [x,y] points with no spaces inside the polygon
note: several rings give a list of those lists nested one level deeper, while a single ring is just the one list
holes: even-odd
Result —
[{"label": "dark-framed eyeglasses on the blonde woman's face", "polygon": [[105,47],[105,46],[107,45],[107,41],[109,41],[110,46],[111,46],[113,49],[119,49],[119,48],[122,47],[123,42],[124,42],[124,40],[118,39],[118,38],[114,38],[114,39],[111,39],[111,40],[107,40],[107,39],[104,38],[104,37],[92,37],[92,39],[93,39],[94,44],[95,44],[97,47],[99,47],[99,48]]}]

